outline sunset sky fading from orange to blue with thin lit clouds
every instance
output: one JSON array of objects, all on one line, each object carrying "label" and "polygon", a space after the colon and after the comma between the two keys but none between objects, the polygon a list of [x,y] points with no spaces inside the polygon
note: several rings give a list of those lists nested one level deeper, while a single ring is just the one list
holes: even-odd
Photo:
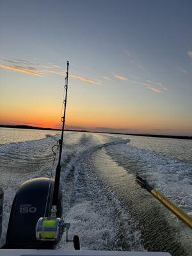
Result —
[{"label": "sunset sky fading from orange to blue with thin lit clouds", "polygon": [[192,136],[192,1],[0,1],[0,124]]}]

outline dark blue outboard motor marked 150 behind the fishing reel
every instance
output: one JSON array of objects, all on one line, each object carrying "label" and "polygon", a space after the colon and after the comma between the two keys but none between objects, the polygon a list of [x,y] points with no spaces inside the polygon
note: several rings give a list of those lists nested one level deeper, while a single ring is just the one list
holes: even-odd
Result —
[{"label": "dark blue outboard motor marked 150 behind the fishing reel", "polygon": [[[53,249],[58,241],[38,241],[36,223],[50,216],[54,179],[36,178],[24,182],[12,204],[6,244],[3,248]],[[59,191],[56,217],[62,216],[62,193]]]}]

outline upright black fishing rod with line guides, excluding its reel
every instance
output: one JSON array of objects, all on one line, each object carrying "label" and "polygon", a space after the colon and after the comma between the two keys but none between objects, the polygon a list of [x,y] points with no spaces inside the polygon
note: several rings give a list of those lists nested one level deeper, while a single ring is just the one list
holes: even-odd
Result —
[{"label": "upright black fishing rod with line guides, excluding its reel", "polygon": [[[56,205],[58,205],[58,195],[59,195],[59,188],[60,188],[61,154],[62,154],[62,148],[63,148],[63,134],[64,134],[64,129],[65,129],[65,115],[66,115],[66,108],[67,108],[68,66],[69,66],[69,62],[67,61],[67,72],[66,72],[65,86],[64,86],[65,100],[63,100],[64,111],[63,111],[63,116],[61,117],[62,131],[61,131],[61,139],[59,140],[60,153],[59,153],[58,165],[56,167],[56,175],[54,178],[54,190],[53,190],[53,196],[52,196],[52,209],[51,209],[52,214],[54,214],[54,212],[56,212]],[[55,216],[55,214],[54,214],[54,216]]]}]

